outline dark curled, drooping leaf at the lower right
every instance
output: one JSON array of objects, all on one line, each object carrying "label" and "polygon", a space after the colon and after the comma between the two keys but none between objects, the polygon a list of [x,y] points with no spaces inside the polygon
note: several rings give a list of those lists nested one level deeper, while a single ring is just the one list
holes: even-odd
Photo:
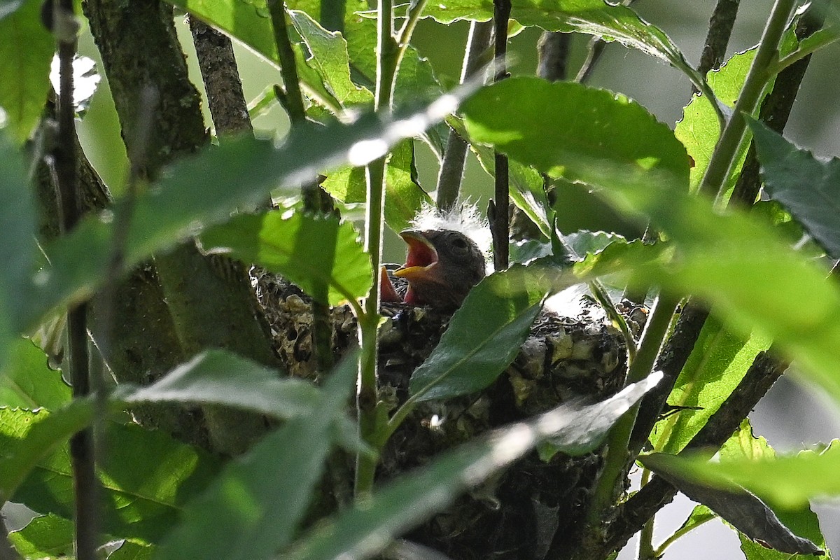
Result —
[{"label": "dark curled, drooping leaf at the lower right", "polygon": [[639,458],[645,467],[659,474],[691,500],[709,508],[732,523],[738,531],[780,552],[815,554],[819,547],[801,536],[794,535],[779,518],[755,495],[736,484],[709,487],[681,468],[676,455],[653,453]]}]

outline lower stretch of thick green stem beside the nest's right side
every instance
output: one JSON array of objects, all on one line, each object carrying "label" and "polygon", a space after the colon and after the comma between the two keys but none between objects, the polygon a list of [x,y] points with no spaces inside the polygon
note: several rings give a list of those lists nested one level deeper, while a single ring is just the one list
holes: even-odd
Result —
[{"label": "lower stretch of thick green stem beside the nest's right side", "polygon": [[[648,317],[648,324],[644,328],[636,359],[633,360],[630,369],[627,370],[625,386],[644,379],[650,374],[659,355],[659,348],[662,347],[662,343],[669,332],[669,325],[679,302],[680,298],[678,297],[659,296],[654,310],[650,312],[650,317]],[[595,526],[601,521],[604,512],[615,503],[617,483],[625,468],[627,468],[627,461],[630,459],[627,447],[630,442],[630,435],[633,433],[633,424],[636,421],[637,412],[638,405],[633,406],[622,416],[621,420],[617,421],[607,437],[604,468],[598,478],[587,515],[587,521],[591,526]]]}]

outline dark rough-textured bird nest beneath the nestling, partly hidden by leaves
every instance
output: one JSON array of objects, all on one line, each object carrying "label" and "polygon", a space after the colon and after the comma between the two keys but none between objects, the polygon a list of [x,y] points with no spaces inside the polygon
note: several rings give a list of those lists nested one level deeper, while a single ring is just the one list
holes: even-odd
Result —
[{"label": "dark rough-textured bird nest beneath the nestling, partly hidden by leaves", "polygon": [[[289,374],[315,379],[311,299],[281,277],[252,274],[276,353]],[[543,312],[516,359],[486,390],[417,406],[383,450],[377,478],[422,466],[445,449],[564,402],[601,400],[619,390],[626,373],[624,341],[593,302],[583,310],[579,317]],[[643,309],[624,311],[643,322]],[[451,315],[402,304],[387,304],[382,314],[379,395],[396,409],[407,399],[412,372],[438,344]],[[356,322],[349,306],[333,308],[330,322],[338,359],[355,343]],[[542,560],[574,533],[600,468],[597,452],[577,458],[558,453],[549,461],[532,453],[408,538],[454,560]]]}]

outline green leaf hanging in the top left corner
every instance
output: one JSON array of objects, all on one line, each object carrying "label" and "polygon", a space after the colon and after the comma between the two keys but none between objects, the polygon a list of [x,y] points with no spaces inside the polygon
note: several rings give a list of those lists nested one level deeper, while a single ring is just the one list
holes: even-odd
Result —
[{"label": "green leaf hanging in the top left corner", "polygon": [[18,4],[11,13],[8,9],[14,5],[0,8],[4,14],[0,18],[0,107],[8,118],[8,132],[18,144],[24,144],[41,118],[50,91],[55,39],[41,24],[40,0]]}]

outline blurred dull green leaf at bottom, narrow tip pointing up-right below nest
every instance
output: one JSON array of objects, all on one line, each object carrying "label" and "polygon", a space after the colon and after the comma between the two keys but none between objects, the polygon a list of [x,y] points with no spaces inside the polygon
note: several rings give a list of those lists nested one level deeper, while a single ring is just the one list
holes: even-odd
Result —
[{"label": "blurred dull green leaf at bottom, narrow tip pointing up-right below nest", "polygon": [[291,542],[330,448],[329,430],[349,397],[354,354],[333,370],[318,404],[270,433],[184,511],[157,558],[270,558]]}]

